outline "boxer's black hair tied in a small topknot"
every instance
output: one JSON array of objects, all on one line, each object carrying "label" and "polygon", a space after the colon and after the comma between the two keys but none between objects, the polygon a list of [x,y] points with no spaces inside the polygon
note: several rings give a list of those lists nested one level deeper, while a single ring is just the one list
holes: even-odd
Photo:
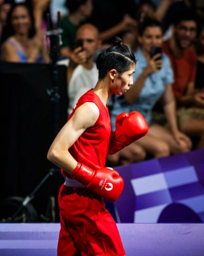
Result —
[{"label": "boxer's black hair tied in a small topknot", "polygon": [[131,48],[122,44],[121,39],[116,36],[113,39],[112,46],[101,52],[96,59],[99,79],[103,79],[111,69],[116,69],[121,76],[135,63],[135,55]]}]

